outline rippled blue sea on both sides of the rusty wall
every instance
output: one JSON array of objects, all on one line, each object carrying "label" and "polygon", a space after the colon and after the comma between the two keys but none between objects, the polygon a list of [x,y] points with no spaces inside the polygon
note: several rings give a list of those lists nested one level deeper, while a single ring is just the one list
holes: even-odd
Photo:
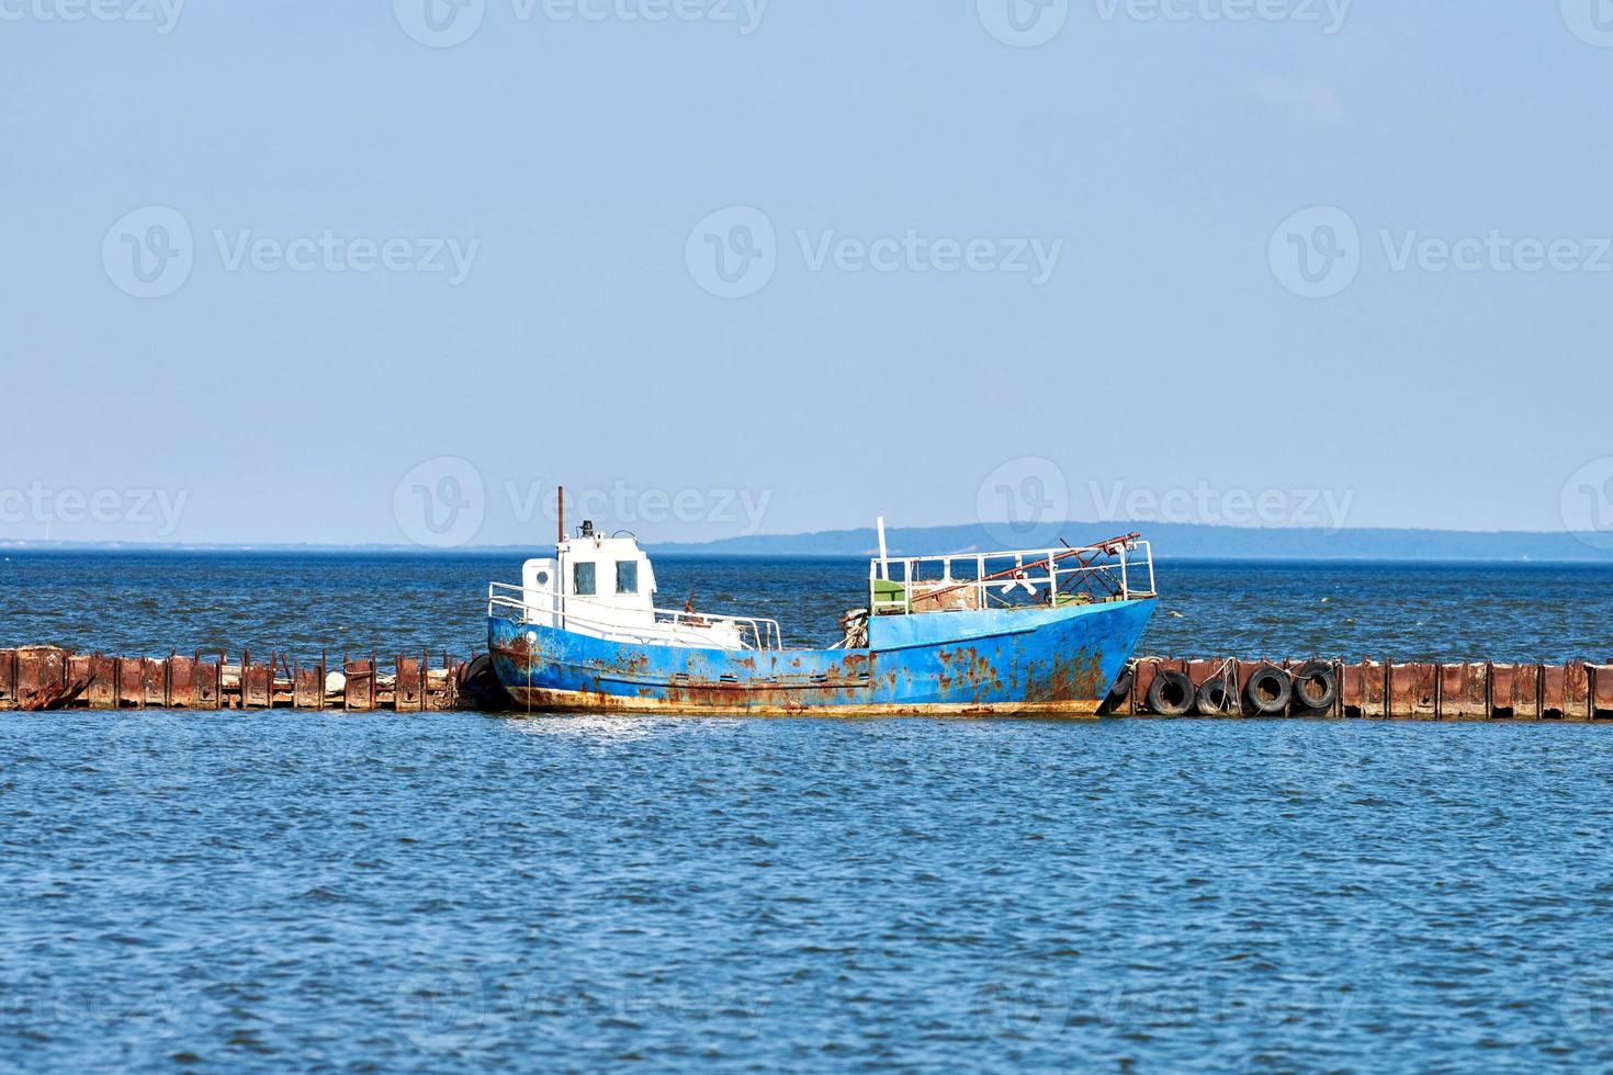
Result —
[{"label": "rippled blue sea on both sides of the rusty wall", "polygon": [[[802,640],[866,571],[658,569]],[[489,577],[11,553],[0,645],[465,653]],[[1607,571],[1160,583],[1153,651],[1613,656]],[[1607,1070],[1610,735],[0,714],[0,1069]]]}]

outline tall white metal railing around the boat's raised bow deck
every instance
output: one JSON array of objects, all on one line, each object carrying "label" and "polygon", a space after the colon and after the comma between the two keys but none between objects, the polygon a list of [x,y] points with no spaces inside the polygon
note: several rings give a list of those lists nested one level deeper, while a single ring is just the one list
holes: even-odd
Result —
[{"label": "tall white metal railing around the boat's raised bow deck", "polygon": [[868,564],[868,608],[874,616],[1132,601],[1155,593],[1153,546],[1137,533],[1086,548],[884,558]]}]

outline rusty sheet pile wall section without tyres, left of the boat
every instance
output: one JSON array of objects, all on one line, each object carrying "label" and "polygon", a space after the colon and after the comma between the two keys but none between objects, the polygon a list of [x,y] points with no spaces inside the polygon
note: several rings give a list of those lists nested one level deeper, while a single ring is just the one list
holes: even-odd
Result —
[{"label": "rusty sheet pile wall section without tyres, left of the boat", "polygon": [[108,658],[71,650],[0,650],[0,709],[460,709],[466,664],[442,654],[398,654],[382,672],[374,656],[321,656],[302,664],[273,653],[239,662],[224,654]]}]

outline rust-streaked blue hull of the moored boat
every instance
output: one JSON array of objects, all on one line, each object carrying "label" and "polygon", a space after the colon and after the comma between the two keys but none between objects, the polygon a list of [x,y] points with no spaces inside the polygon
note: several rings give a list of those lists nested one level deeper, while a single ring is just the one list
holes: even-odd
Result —
[{"label": "rust-streaked blue hull of the moored boat", "polygon": [[677,714],[1094,716],[1153,600],[881,616],[868,650],[624,645],[489,617],[518,708]]}]

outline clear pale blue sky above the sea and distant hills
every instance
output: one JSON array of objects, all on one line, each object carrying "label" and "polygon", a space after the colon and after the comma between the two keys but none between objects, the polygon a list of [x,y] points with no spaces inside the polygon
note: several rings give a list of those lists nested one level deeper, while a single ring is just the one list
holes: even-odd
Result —
[{"label": "clear pale blue sky above the sea and distant hills", "polygon": [[0,0],[0,538],[1613,530],[1598,2]]}]

